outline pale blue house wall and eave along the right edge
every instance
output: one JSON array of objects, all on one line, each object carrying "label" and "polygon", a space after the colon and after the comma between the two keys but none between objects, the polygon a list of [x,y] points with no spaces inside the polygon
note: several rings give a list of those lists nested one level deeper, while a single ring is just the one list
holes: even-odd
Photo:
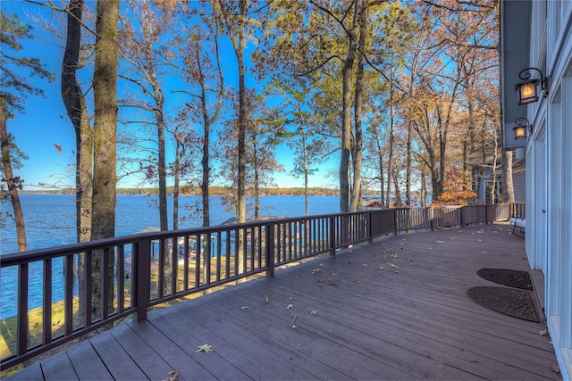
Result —
[{"label": "pale blue house wall and eave along the right edge", "polygon": [[[506,30],[516,28],[523,14],[530,33],[511,37]],[[512,132],[508,118],[515,110],[534,126],[526,141],[525,186],[514,174],[515,197],[526,199],[526,255],[531,267],[544,273],[547,325],[566,380],[572,377],[572,2],[502,1],[501,30],[501,39],[510,39],[502,43],[501,58],[505,136]],[[507,46],[528,52],[527,62],[511,57]],[[515,109],[513,83],[527,67],[550,77],[549,95]],[[517,189],[526,189],[526,195],[517,195]]]}]

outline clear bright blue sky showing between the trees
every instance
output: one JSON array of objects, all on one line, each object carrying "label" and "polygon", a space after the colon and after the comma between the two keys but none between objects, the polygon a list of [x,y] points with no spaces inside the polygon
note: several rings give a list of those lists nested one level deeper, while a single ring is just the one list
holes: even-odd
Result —
[{"label": "clear bright blue sky showing between the trees", "polygon": [[[41,13],[49,18],[49,12],[36,4],[23,1],[2,1],[2,7],[8,14],[16,13],[22,22],[29,21],[29,15]],[[17,113],[15,118],[8,120],[8,132],[16,138],[17,145],[29,156],[24,167],[16,171],[16,175],[24,179],[25,190],[38,190],[38,184],[50,184],[58,187],[73,186],[74,178],[71,163],[74,158],[75,134],[71,123],[65,115],[60,95],[59,75],[62,64],[63,49],[42,40],[53,40],[51,34],[44,32],[38,25],[33,26],[37,40],[23,41],[24,49],[19,53],[26,57],[38,57],[46,64],[46,69],[55,73],[56,81],[50,84],[46,80],[32,78],[32,83],[45,92],[45,97],[31,95],[25,101],[25,113]],[[227,49],[230,46],[228,41]],[[225,82],[227,86],[238,87],[236,76],[236,59],[231,50],[227,50],[223,57]],[[257,81],[250,79],[248,87],[260,87]],[[121,91],[121,90],[120,90]],[[56,145],[62,148],[61,153]],[[278,162],[285,169],[292,169],[293,154],[283,145],[276,150]],[[310,179],[309,186],[337,186],[337,179],[326,178],[329,171],[337,171],[338,163],[332,158],[330,162],[320,166]],[[288,173],[276,173],[275,182],[278,186],[304,186],[302,178],[293,178]],[[138,183],[135,178],[124,178],[118,186],[132,186]],[[170,185],[168,183],[168,185]]]}]

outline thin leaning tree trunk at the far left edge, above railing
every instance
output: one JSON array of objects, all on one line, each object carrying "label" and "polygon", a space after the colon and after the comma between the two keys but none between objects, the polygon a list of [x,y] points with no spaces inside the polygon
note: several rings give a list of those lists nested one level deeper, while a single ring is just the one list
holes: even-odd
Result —
[{"label": "thin leaning tree trunk at the far left edge, above railing", "polygon": [[10,158],[10,138],[8,137],[6,122],[7,117],[3,100],[0,104],[0,145],[2,145],[2,164],[4,167],[3,180],[6,182],[8,194],[12,201],[14,219],[16,221],[16,236],[18,237],[18,251],[25,252],[28,250],[26,225],[24,223],[24,213],[21,211],[20,195],[18,195],[18,188],[21,187],[21,179],[14,177],[12,160]]}]

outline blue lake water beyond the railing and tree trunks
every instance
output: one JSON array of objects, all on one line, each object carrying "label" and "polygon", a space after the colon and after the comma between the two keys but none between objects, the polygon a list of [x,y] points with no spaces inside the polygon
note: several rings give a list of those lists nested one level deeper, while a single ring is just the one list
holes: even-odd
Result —
[{"label": "blue lake water beyond the railing and tree trunks", "polygon": [[[26,223],[28,249],[41,249],[76,242],[75,196],[74,195],[21,195],[21,207]],[[198,209],[200,196],[181,196],[179,216],[187,219],[180,222],[179,228],[198,228],[202,226],[202,214]],[[305,214],[303,196],[261,196],[260,214],[265,216],[299,217]],[[340,211],[338,196],[309,197],[309,213],[327,214]],[[149,227],[159,227],[159,215],[156,196],[117,195],[115,212],[115,236],[128,236]],[[172,197],[167,200],[169,227],[172,228]],[[247,199],[247,205],[252,198]],[[12,214],[12,204],[1,203],[3,213]],[[247,206],[248,209],[248,206]],[[220,197],[211,197],[211,225],[220,225],[235,216],[226,211]],[[249,213],[252,214],[252,213]],[[16,228],[13,221],[6,224],[0,232],[0,254],[18,251]],[[37,266],[38,269],[35,269]],[[54,301],[63,299],[63,261],[55,260]],[[32,263],[29,269],[29,308],[42,304],[41,262]],[[0,319],[15,315],[17,300],[16,269],[3,269],[0,273]]]}]

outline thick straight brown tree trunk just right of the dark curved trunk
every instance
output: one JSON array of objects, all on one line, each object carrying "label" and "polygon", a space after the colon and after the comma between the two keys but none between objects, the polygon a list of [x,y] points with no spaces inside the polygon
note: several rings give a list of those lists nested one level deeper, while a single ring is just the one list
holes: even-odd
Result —
[{"label": "thick straight brown tree trunk just right of the dark curved trunk", "polygon": [[[93,87],[95,104],[94,173],[92,198],[92,239],[115,234],[115,185],[117,183],[117,52],[119,0],[97,0],[96,62]],[[103,251],[94,253],[92,312],[99,318],[101,307],[100,279]],[[109,300],[114,309],[114,255],[109,253]]]}]

